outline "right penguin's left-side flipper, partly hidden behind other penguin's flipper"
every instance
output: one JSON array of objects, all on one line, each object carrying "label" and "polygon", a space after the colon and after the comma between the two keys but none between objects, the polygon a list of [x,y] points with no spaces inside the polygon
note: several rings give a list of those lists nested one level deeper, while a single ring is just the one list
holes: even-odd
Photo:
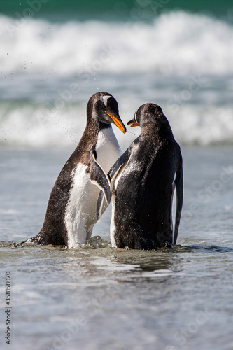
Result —
[{"label": "right penguin's left-side flipper, partly hidden behind other penguin's flipper", "polygon": [[[120,171],[120,169],[122,168],[123,165],[125,165],[125,163],[129,160],[129,156],[130,156],[130,149],[128,148],[119,158],[118,160],[115,161],[115,163],[113,164],[113,166],[111,167],[111,169],[108,172],[108,178],[110,179],[111,183],[113,181],[113,178],[118,175],[118,172]],[[115,181],[115,179],[114,179]],[[113,181],[113,183],[114,183]],[[112,186],[113,186],[112,183]],[[109,204],[109,203],[108,203]],[[101,210],[102,207],[104,205],[104,193],[101,190],[99,193],[99,197],[97,200],[97,218],[99,220],[100,216],[101,216]]]}]

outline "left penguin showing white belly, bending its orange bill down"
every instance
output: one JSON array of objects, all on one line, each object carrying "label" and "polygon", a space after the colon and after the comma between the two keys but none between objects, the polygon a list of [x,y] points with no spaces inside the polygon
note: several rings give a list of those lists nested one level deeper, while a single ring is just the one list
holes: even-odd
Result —
[{"label": "left penguin showing white belly, bending its orange bill down", "polygon": [[111,201],[107,173],[120,156],[111,123],[126,132],[118,102],[108,92],[97,92],[87,103],[87,125],[75,151],[55,182],[41,231],[24,243],[66,245],[85,243],[97,222],[99,190]]}]

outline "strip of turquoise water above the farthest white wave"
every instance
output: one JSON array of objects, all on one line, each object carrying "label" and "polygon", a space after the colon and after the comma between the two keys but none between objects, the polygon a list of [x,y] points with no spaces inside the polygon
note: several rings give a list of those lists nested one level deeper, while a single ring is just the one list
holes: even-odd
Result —
[{"label": "strip of turquoise water above the farthest white wave", "polygon": [[[31,10],[31,13],[29,10]],[[164,10],[187,10],[190,12],[204,12],[216,16],[231,15],[232,1],[185,1],[185,0],[8,0],[2,1],[0,13],[13,16],[17,13],[28,13],[36,18],[56,16],[72,16],[76,18],[111,18],[120,19],[131,18],[133,20],[149,20],[160,15]]]}]

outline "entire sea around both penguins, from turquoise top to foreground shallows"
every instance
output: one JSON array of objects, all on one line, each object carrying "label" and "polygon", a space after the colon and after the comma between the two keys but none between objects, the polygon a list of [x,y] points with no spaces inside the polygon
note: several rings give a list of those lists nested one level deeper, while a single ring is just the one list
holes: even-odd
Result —
[{"label": "entire sea around both penguins, from turquoise top to foreground shallows", "polygon": [[[6,272],[13,350],[233,349],[232,8],[1,3],[1,349],[9,346]],[[111,248],[110,208],[81,248],[17,245],[40,230],[97,91],[113,94],[125,124],[141,104],[160,104],[181,144],[185,191],[173,249]],[[140,132],[113,128],[122,151]]]}]

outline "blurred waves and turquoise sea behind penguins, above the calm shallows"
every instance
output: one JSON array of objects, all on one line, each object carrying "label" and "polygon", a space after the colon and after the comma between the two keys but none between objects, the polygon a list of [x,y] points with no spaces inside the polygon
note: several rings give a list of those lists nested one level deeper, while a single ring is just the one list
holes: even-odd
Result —
[{"label": "blurred waves and turquoise sea behind penguins, above the calm shallows", "polygon": [[97,91],[125,123],[153,102],[181,144],[232,144],[231,0],[8,0],[0,27],[1,146],[75,146]]}]

